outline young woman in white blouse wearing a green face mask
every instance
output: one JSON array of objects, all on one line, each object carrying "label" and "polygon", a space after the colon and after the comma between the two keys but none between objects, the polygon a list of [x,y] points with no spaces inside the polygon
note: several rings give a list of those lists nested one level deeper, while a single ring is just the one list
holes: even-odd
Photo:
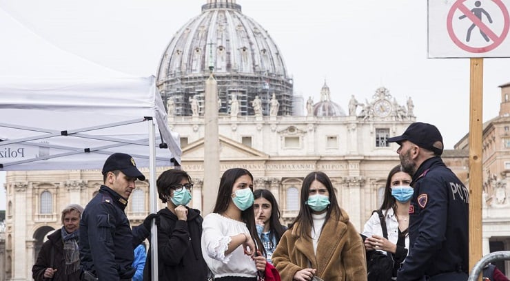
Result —
[{"label": "young woman in white blouse wearing a green face mask", "polygon": [[256,281],[265,270],[253,202],[252,174],[240,168],[225,171],[214,211],[202,224],[202,254],[215,281]]}]

